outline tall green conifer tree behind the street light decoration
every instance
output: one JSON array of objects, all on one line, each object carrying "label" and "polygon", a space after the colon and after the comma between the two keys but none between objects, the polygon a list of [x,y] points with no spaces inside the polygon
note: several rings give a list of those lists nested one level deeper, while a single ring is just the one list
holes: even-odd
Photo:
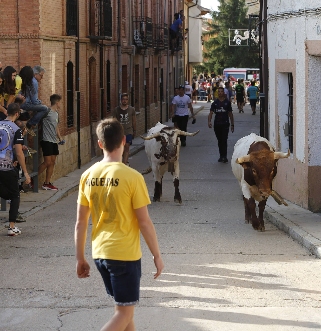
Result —
[{"label": "tall green conifer tree behind the street light decoration", "polygon": [[207,52],[203,52],[203,57],[208,61],[194,69],[197,72],[222,74],[224,68],[258,68],[258,54],[249,53],[248,46],[229,46],[229,28],[249,28],[245,0],[219,0],[219,3],[218,12],[211,12],[209,30],[203,33],[209,36],[204,43]]}]

